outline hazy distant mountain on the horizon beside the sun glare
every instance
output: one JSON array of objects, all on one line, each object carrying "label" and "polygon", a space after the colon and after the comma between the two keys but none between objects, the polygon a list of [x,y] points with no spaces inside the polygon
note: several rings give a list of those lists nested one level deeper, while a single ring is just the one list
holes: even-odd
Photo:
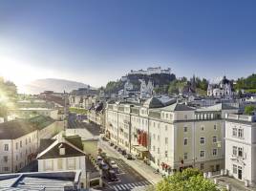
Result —
[{"label": "hazy distant mountain on the horizon beside the sun glare", "polygon": [[25,86],[18,87],[19,93],[25,93],[30,95],[38,95],[44,91],[53,91],[56,93],[71,92],[78,88],[91,88],[90,85],[71,81],[66,79],[57,79],[57,78],[45,78],[45,79],[36,79],[26,84]]}]

